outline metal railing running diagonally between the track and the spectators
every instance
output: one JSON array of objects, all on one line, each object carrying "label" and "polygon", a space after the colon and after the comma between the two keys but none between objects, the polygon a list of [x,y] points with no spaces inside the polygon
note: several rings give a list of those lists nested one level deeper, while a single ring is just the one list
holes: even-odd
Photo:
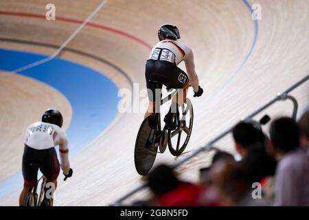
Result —
[{"label": "metal railing running diagonally between the track and the spectators", "polygon": [[[275,98],[273,98],[273,100],[271,100],[271,101],[267,102],[266,104],[264,104],[262,107],[260,107],[260,109],[257,109],[256,111],[251,113],[251,115],[247,116],[247,118],[244,118],[244,120],[251,120],[255,115],[258,115],[258,113],[260,113],[264,109],[270,107],[272,104],[274,104],[275,102],[277,102],[279,100],[291,100],[293,102],[292,118],[296,119],[298,103],[297,103],[297,100],[293,96],[290,96],[288,94],[290,93],[290,91],[293,91],[293,89],[299,87],[299,85],[302,85],[307,80],[309,80],[309,74],[306,77],[304,77],[301,80],[299,80],[293,86],[291,86],[288,89],[286,89],[286,91],[282,92],[281,94],[277,94],[277,96]],[[193,157],[196,157],[196,155],[198,155],[199,153],[202,153],[202,152],[205,152],[205,151],[215,150],[216,148],[214,147],[214,143],[218,142],[218,140],[220,140],[222,137],[225,137],[227,134],[229,134],[232,131],[232,129],[233,129],[233,127],[235,125],[236,124],[231,126],[226,131],[222,132],[220,135],[218,135],[218,137],[214,138],[214,140],[211,140],[210,142],[205,144],[205,146],[201,146],[200,148],[196,149],[191,155],[185,157],[184,159],[182,159],[179,162],[176,162],[171,167],[172,168],[176,168],[177,166],[180,166],[181,164],[183,164],[183,163],[187,162],[188,160],[192,159]],[[124,201],[124,199],[127,199],[128,197],[134,195],[136,192],[138,192],[139,190],[142,190],[145,187],[146,187],[146,184],[142,184],[141,186],[135,188],[131,192],[128,192],[126,195],[124,195],[123,197],[121,197],[120,199],[115,201],[115,203],[113,205],[114,206],[121,206],[122,205],[122,201]]]}]

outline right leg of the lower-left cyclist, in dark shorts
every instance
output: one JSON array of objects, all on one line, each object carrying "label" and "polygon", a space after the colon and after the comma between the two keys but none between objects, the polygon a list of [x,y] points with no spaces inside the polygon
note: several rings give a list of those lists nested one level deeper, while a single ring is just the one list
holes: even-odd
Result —
[{"label": "right leg of the lower-left cyclist, in dark shorts", "polygon": [[[53,183],[54,186],[52,186],[52,190],[56,190],[57,178],[60,173],[60,163],[58,161],[56,149],[54,147],[46,150],[44,159],[41,163],[43,164],[43,166],[40,168],[40,170],[47,178],[47,183]],[[49,187],[45,188],[45,190],[49,189]],[[54,194],[54,192],[52,192],[52,194]]]}]

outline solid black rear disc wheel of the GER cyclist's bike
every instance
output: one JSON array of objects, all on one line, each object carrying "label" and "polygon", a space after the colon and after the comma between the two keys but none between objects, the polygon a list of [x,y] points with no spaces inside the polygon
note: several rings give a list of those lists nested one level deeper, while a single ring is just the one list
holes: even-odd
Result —
[{"label": "solid black rear disc wheel of the GER cyclist's bike", "polygon": [[149,118],[155,120],[154,116],[148,116],[144,119],[139,127],[135,142],[134,162],[139,175],[146,175],[150,171],[157,156],[158,147],[152,143],[155,137],[155,129],[150,129]]}]

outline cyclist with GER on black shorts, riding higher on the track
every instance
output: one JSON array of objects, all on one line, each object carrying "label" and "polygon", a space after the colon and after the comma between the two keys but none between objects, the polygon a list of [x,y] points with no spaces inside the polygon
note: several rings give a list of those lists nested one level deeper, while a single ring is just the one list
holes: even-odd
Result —
[{"label": "cyclist with GER on black shorts, riding higher on the track", "polygon": [[[172,89],[183,89],[183,98],[174,98],[174,104],[182,104],[187,96],[187,88],[191,84],[194,89],[194,97],[201,96],[203,89],[198,85],[198,76],[194,67],[194,55],[190,47],[177,41],[180,39],[178,28],[172,24],[161,25],[158,30],[159,43],[152,47],[150,56],[146,63],[146,85],[148,89],[149,104],[145,118],[155,113],[155,86],[153,82]],[[185,62],[188,75],[177,67],[181,61]],[[176,97],[176,96],[175,96]],[[176,102],[176,103],[175,103]],[[164,122],[168,129],[176,129],[173,122],[173,112],[165,115]]]}]

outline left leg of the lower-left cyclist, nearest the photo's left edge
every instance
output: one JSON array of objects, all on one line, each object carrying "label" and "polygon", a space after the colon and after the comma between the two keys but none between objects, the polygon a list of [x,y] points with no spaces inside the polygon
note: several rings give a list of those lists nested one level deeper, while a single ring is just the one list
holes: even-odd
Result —
[{"label": "left leg of the lower-left cyclist, nearest the photo's left edge", "polygon": [[21,195],[19,196],[19,206],[23,206],[25,204],[27,194],[32,190],[34,182],[36,181],[38,167],[30,166],[30,161],[36,156],[34,153],[35,152],[32,148],[25,146],[22,163],[24,184]]}]

